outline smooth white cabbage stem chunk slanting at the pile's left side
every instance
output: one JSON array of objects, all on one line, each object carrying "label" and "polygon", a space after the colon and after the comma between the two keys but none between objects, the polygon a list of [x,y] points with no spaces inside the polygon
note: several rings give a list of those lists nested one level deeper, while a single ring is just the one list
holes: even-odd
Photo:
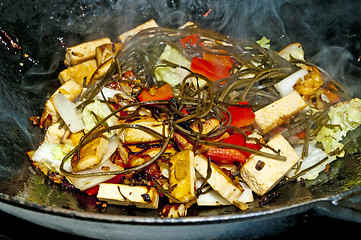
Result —
[{"label": "smooth white cabbage stem chunk slanting at the pile's left side", "polygon": [[71,102],[60,92],[53,97],[52,101],[55,110],[59,113],[72,133],[84,129],[81,113],[76,109],[75,103]]}]

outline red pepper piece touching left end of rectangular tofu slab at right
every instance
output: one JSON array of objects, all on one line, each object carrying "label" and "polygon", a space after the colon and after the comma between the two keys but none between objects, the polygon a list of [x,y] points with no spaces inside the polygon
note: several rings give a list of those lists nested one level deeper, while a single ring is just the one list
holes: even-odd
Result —
[{"label": "red pepper piece touching left end of rectangular tofu slab at right", "polygon": [[[240,105],[248,105],[248,102],[238,103]],[[232,126],[236,127],[244,127],[254,123],[255,114],[250,107],[237,107],[231,106],[228,107],[227,110],[232,115]]]}]

